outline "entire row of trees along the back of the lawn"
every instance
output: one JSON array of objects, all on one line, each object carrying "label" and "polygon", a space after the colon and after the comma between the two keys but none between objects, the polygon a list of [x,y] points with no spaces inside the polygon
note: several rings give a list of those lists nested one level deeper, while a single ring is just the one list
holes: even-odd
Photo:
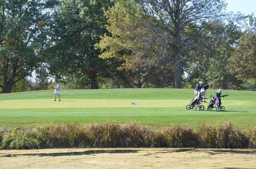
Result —
[{"label": "entire row of trees along the back of the lawn", "polygon": [[[256,90],[256,18],[224,0],[0,0],[1,92],[47,89]],[[15,89],[15,90],[14,90]]]}]

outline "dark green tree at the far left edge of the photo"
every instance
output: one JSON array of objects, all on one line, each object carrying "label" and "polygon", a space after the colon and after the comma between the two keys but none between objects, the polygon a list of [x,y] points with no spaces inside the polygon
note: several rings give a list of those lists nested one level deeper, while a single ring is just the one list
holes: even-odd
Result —
[{"label": "dark green tree at the far left edge of the photo", "polygon": [[54,0],[0,0],[0,87],[9,93],[40,67]]}]

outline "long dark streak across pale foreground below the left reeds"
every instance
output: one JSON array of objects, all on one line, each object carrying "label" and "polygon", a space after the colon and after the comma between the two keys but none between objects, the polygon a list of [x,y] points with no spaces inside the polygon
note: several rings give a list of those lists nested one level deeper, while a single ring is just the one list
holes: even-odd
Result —
[{"label": "long dark streak across pale foreground below the left reeds", "polygon": [[59,156],[72,156],[72,155],[94,155],[99,153],[138,153],[138,150],[89,150],[89,151],[80,151],[80,152],[65,152],[65,153],[26,153],[26,154],[6,154],[0,157],[19,157],[19,156],[51,156],[51,157],[59,157]]}]

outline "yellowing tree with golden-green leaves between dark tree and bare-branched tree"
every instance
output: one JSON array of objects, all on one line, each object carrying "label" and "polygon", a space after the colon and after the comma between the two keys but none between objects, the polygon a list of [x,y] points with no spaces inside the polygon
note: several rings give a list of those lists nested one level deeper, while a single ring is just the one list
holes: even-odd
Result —
[{"label": "yellowing tree with golden-green leaves between dark tree and bare-branched tree", "polygon": [[[153,17],[142,14],[134,1],[120,0],[106,12],[110,35],[105,34],[97,45],[104,59],[116,58],[124,63],[119,67],[138,88],[146,83],[158,86],[168,79],[173,83],[173,71],[166,64],[166,34],[162,24]],[[161,56],[161,57],[160,57]],[[167,81],[168,81],[167,80]]]}]

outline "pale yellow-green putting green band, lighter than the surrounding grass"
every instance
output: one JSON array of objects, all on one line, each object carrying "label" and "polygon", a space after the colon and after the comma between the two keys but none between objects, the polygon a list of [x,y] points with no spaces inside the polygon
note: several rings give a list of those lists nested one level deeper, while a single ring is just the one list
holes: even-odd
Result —
[{"label": "pale yellow-green putting green band, lighter than the surrounding grass", "polygon": [[[136,105],[131,102],[136,102]],[[226,101],[226,106],[250,106],[250,101]],[[188,100],[102,100],[102,99],[66,99],[53,102],[50,99],[6,100],[0,101],[0,109],[30,109],[30,108],[184,108]],[[207,106],[207,104],[204,104]]]}]

